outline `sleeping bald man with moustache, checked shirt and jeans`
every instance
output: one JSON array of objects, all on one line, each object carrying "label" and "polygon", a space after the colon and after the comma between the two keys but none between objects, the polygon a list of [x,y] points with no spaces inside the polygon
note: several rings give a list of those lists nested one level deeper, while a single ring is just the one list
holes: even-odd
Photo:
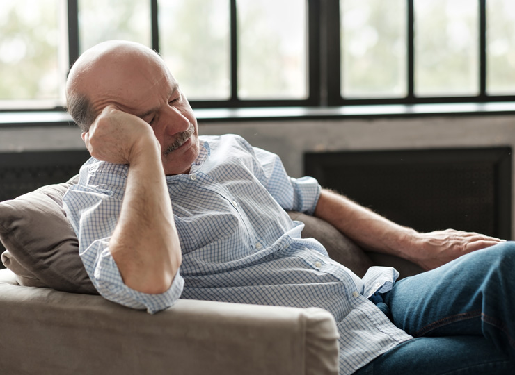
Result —
[{"label": "sleeping bald man with moustache, checked shirt and jeans", "polygon": [[[67,98],[93,158],[65,209],[86,271],[107,299],[150,313],[179,297],[319,306],[338,325],[341,374],[511,371],[512,243],[418,233],[313,178],[288,177],[277,156],[235,135],[199,137],[177,81],[139,44],[86,51],[70,71]],[[398,283],[387,267],[361,279],[319,242],[301,239],[302,224],[285,209],[425,269],[458,259]],[[389,317],[371,300],[385,302]]]}]

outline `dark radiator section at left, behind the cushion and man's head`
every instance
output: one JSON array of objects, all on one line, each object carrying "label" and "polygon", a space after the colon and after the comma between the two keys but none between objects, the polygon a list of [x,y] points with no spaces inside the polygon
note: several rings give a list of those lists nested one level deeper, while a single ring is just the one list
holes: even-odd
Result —
[{"label": "dark radiator section at left, behind the cushion and man's head", "polygon": [[66,182],[79,173],[89,157],[86,150],[0,153],[0,201]]}]

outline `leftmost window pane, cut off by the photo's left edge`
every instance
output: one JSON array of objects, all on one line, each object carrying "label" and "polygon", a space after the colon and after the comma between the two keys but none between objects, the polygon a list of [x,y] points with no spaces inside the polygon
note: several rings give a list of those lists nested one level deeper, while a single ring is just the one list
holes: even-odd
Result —
[{"label": "leftmost window pane, cut off by the photo's left edge", "polygon": [[62,51],[63,5],[59,0],[0,1],[0,100],[61,104],[62,56],[68,53]]}]

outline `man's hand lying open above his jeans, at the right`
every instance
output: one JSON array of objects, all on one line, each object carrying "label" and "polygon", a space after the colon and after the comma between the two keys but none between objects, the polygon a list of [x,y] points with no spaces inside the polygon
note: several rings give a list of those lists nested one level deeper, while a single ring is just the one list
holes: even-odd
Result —
[{"label": "man's hand lying open above his jeans, at the right", "polygon": [[472,251],[491,247],[505,240],[473,232],[434,231],[417,233],[411,240],[411,260],[424,269],[444,265]]}]

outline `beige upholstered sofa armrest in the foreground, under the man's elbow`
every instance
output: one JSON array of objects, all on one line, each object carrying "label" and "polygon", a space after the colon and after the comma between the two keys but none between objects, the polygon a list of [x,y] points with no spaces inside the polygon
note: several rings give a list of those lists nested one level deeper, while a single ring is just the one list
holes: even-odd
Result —
[{"label": "beige upholstered sofa armrest in the foreground, under the man's elbow", "polygon": [[338,374],[326,310],[179,300],[149,315],[11,274],[0,270],[2,374]]}]

